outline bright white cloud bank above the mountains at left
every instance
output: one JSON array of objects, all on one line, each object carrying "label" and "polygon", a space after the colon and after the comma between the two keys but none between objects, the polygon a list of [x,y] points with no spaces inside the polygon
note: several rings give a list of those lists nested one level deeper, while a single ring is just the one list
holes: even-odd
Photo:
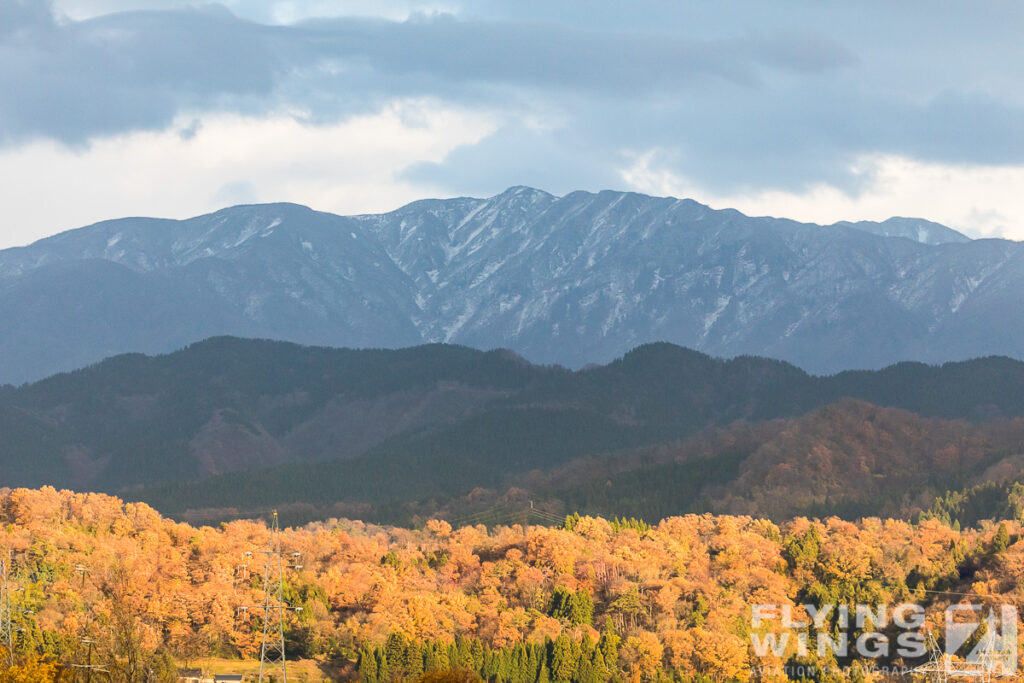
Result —
[{"label": "bright white cloud bank above the mountains at left", "polygon": [[185,218],[234,201],[388,211],[432,189],[397,179],[399,171],[440,161],[496,126],[488,113],[416,99],[326,126],[285,115],[187,116],[167,131],[99,138],[82,151],[52,141],[2,150],[0,248],[108,218]]}]

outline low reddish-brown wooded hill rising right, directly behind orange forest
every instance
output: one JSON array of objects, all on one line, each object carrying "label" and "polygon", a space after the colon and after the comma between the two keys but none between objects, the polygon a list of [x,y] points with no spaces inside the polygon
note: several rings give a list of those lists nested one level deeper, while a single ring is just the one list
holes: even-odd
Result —
[{"label": "low reddish-brown wooded hill rising right, directly behind orange forest", "polygon": [[[492,425],[492,433],[500,426]],[[444,442],[453,441],[438,443]],[[646,519],[709,511],[773,519],[909,517],[949,488],[979,477],[1001,480],[1024,454],[1024,419],[922,418],[844,399],[799,418],[737,422],[673,442],[552,460],[552,465],[562,464],[546,471],[520,468],[515,474],[516,450],[527,445],[511,442],[505,457],[494,460],[439,445],[379,452],[343,463],[238,472],[140,495],[172,512],[302,502],[318,506],[304,513],[308,518],[358,514],[398,523],[417,515],[460,517],[490,505],[514,508],[515,501],[521,506],[528,500],[554,514],[579,510]],[[461,498],[476,486],[488,486],[489,493],[477,489]],[[364,507],[332,512],[331,504],[338,501]]]}]

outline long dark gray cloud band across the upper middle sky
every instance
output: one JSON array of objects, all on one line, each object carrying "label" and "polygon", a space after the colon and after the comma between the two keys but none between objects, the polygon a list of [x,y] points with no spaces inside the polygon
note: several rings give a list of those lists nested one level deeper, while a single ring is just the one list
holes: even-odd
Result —
[{"label": "long dark gray cloud band across the upper middle sky", "polygon": [[709,81],[753,86],[769,68],[819,72],[853,60],[839,45],[800,35],[687,40],[452,16],[304,26],[315,54],[358,59],[383,74],[616,96]]}]

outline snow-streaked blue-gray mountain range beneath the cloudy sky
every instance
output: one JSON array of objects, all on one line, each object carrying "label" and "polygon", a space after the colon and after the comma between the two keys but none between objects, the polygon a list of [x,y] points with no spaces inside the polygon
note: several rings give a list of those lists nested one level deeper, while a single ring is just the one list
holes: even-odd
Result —
[{"label": "snow-streaked blue-gray mountain range beneath the cloudy sky", "polygon": [[1024,357],[1022,291],[1024,245],[921,219],[819,226],[528,187],[352,217],[241,206],[0,252],[0,382],[220,334],[573,367],[656,340],[812,372]]}]

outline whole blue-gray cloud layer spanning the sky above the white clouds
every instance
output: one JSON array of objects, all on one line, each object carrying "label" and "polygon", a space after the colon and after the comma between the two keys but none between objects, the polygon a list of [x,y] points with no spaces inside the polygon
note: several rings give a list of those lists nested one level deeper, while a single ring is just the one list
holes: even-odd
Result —
[{"label": "whole blue-gray cloud layer spanning the sky above the white clouds", "polygon": [[54,20],[44,2],[7,0],[0,143],[85,144],[202,111],[287,106],[315,124],[431,96],[506,120],[406,171],[449,191],[613,185],[645,151],[716,190],[856,191],[863,154],[1024,162],[1021,10],[986,7],[488,0],[267,26],[217,7]]}]

